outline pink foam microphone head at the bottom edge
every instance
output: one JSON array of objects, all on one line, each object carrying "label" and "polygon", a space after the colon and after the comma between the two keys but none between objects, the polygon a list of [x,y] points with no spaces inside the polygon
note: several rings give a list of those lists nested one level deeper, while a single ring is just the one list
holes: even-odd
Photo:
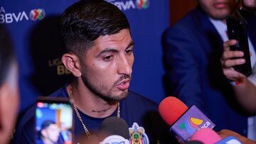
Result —
[{"label": "pink foam microphone head at the bottom edge", "polygon": [[190,140],[199,140],[204,144],[213,144],[221,140],[220,135],[210,128],[201,128],[196,131]]}]

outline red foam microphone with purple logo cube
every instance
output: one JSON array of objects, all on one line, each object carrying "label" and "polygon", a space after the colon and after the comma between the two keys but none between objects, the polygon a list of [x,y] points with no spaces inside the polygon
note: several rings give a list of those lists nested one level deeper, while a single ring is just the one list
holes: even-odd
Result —
[{"label": "red foam microphone with purple logo cube", "polygon": [[215,124],[210,121],[196,106],[188,106],[174,96],[168,96],[159,104],[160,116],[171,126],[183,140],[188,140],[193,133],[201,128],[214,128]]}]

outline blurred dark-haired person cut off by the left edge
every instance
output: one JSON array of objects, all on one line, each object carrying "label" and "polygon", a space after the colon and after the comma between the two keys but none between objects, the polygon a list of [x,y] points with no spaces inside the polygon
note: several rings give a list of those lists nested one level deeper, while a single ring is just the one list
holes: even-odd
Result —
[{"label": "blurred dark-haired person cut off by the left edge", "polygon": [[0,143],[8,143],[18,111],[18,66],[8,33],[0,25]]}]

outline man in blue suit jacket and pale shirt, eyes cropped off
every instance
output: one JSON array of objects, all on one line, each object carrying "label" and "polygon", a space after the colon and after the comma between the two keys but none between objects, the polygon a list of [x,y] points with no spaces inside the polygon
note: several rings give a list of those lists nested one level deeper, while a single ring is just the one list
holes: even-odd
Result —
[{"label": "man in blue suit jacket and pale shirt, eyes cropped off", "polygon": [[[206,113],[216,131],[230,129],[247,136],[247,117],[230,99],[233,89],[219,63],[223,41],[228,40],[225,17],[237,4],[233,0],[198,0],[198,4],[164,35],[169,87],[187,106],[195,104]],[[250,39],[256,42],[256,36]]]}]

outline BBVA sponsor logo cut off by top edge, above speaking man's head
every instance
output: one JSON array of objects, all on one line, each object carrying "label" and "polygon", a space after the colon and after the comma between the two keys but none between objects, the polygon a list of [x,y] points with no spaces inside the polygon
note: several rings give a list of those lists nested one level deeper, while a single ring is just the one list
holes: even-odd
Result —
[{"label": "BBVA sponsor logo cut off by top edge, above speaking man's head", "polygon": [[111,4],[114,4],[121,11],[127,11],[130,9],[147,9],[149,8],[149,0],[128,0],[128,1],[118,1],[118,0],[106,0]]}]

